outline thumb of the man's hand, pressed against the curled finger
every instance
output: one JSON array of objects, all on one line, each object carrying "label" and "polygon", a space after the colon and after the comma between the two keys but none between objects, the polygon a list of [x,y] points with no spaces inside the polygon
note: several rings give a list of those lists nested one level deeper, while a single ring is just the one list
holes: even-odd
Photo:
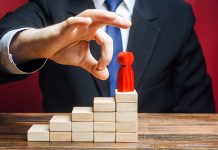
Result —
[{"label": "thumb of the man's hand, pressed against the curled finger", "polygon": [[80,65],[81,68],[85,69],[89,73],[91,73],[94,77],[100,79],[100,80],[107,80],[109,77],[109,71],[107,68],[103,70],[98,70],[98,62],[97,60],[92,56],[91,52],[84,57],[84,59],[81,61]]}]

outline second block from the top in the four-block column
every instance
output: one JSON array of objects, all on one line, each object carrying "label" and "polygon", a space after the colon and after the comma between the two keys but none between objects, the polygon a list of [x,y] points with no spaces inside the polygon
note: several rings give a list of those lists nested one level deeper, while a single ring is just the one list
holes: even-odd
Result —
[{"label": "second block from the top in the four-block column", "polygon": [[115,122],[115,112],[94,112],[94,122]]}]

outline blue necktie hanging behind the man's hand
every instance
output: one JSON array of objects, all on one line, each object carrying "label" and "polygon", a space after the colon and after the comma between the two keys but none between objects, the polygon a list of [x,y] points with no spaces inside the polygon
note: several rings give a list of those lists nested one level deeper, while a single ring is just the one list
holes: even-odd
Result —
[{"label": "blue necktie hanging behind the man's hand", "polygon": [[[105,4],[108,7],[109,11],[115,12],[117,7],[120,5],[122,0],[105,0]],[[115,89],[117,88],[117,76],[119,71],[119,64],[117,61],[117,56],[119,52],[122,51],[122,38],[120,29],[113,26],[107,26],[106,32],[113,39],[113,57],[110,65],[108,66],[108,70],[110,73],[109,83],[110,83],[110,96],[114,96]]]}]

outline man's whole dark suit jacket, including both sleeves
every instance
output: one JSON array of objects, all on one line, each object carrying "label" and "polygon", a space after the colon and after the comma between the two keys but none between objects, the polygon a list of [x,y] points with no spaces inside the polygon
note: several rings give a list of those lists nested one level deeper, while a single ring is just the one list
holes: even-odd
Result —
[{"label": "man's whole dark suit jacket, including both sleeves", "polygon": [[[16,28],[59,23],[92,8],[92,0],[30,0],[1,20],[0,37]],[[194,21],[191,7],[182,0],[136,0],[128,50],[135,55],[139,112],[214,112],[211,82],[193,30]],[[96,43],[91,42],[90,47],[99,58]],[[19,67],[31,71],[43,61]],[[0,82],[25,77],[1,72]],[[46,112],[70,112],[73,106],[91,106],[95,96],[109,96],[108,81],[52,61],[40,71],[39,81]]]}]

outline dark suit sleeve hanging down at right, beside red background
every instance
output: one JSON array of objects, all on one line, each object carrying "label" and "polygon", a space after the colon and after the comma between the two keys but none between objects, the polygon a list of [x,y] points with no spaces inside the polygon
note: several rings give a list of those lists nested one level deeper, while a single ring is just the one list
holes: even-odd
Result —
[{"label": "dark suit sleeve hanging down at right, beside red background", "polygon": [[188,6],[187,18],[187,32],[182,53],[173,71],[176,99],[173,112],[214,112],[211,81],[194,31],[195,18],[191,6]]}]

